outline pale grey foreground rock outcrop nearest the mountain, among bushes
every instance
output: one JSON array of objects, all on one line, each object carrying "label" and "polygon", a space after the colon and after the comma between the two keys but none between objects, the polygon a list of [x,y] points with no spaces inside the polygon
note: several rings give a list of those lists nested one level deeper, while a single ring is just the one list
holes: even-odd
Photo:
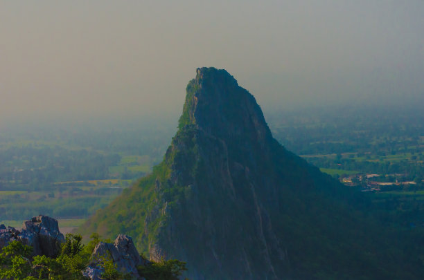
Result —
[{"label": "pale grey foreground rock outcrop nearest the mountain, among bushes", "polygon": [[92,260],[84,275],[93,280],[102,279],[101,274],[104,272],[100,268],[102,258],[112,260],[118,271],[125,274],[129,273],[134,279],[141,279],[136,267],[150,263],[141,258],[132,242],[132,238],[123,234],[119,234],[113,244],[98,243],[91,258]]}]

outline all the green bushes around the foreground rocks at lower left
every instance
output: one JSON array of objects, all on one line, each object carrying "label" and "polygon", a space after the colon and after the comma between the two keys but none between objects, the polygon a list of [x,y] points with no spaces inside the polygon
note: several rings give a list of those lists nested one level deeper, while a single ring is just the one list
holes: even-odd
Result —
[{"label": "all the green bushes around the foreground rocks at lower left", "polygon": [[[98,234],[91,234],[91,241],[82,244],[78,234],[67,234],[61,252],[56,257],[44,255],[32,256],[28,245],[20,241],[12,241],[0,251],[1,279],[33,280],[33,279],[88,279],[82,274],[90,261],[96,244],[102,240]],[[109,241],[110,242],[110,241]],[[96,256],[98,267],[103,269],[102,277],[107,280],[130,280],[130,274],[116,269],[110,256]],[[186,270],[186,263],[176,259],[161,259],[149,265],[141,265],[139,274],[147,280],[177,280]]]}]

